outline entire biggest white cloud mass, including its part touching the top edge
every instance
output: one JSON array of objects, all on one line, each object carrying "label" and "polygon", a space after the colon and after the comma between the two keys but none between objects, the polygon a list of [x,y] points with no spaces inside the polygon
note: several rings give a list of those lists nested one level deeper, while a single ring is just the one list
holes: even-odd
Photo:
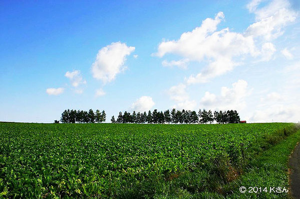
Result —
[{"label": "entire biggest white cloud mass, including its part touching the top edge", "polygon": [[[276,47],[270,42],[284,33],[284,27],[294,22],[298,13],[291,8],[288,0],[252,0],[248,9],[256,16],[256,22],[251,24],[244,33],[224,28],[217,31],[217,26],[224,20],[223,12],[215,18],[206,18],[201,26],[192,31],[184,32],[178,40],[165,40],[158,45],[158,50],[152,55],[163,57],[175,54],[190,62],[204,62],[207,66],[200,73],[185,78],[186,84],[206,83],[211,79],[232,71],[243,64],[240,60],[248,55],[261,57],[258,61],[269,61],[276,52]],[[258,39],[260,37],[261,39]],[[256,43],[261,45],[257,47]],[[237,61],[239,60],[239,61]],[[163,66],[183,65],[179,61],[163,61]]]}]

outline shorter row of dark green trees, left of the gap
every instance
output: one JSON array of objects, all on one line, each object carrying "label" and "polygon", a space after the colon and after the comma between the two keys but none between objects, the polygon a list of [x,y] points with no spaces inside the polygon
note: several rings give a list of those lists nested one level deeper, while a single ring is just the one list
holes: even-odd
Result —
[{"label": "shorter row of dark green trees, left of the gap", "polygon": [[[61,113],[60,121],[61,123],[100,123],[106,120],[106,113],[104,110],[96,110],[95,112],[92,109],[89,111],[85,110],[64,110]],[[57,123],[57,120],[54,121]]]}]

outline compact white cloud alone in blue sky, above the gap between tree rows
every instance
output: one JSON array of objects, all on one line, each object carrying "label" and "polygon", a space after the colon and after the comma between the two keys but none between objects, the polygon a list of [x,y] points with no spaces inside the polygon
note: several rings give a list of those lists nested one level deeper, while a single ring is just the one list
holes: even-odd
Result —
[{"label": "compact white cloud alone in blue sky, above the gap between tree rows", "polygon": [[93,77],[108,83],[115,79],[116,75],[125,70],[126,56],[130,55],[135,47],[125,43],[114,42],[101,48],[96,61],[92,64]]}]

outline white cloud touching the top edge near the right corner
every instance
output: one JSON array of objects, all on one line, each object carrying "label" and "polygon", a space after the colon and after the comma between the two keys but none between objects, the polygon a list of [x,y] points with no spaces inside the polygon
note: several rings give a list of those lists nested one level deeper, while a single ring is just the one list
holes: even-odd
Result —
[{"label": "white cloud touching the top edge near the right corner", "polygon": [[261,0],[253,0],[248,4],[250,12],[254,12],[257,22],[251,24],[246,35],[263,36],[266,40],[279,37],[284,33],[283,27],[296,20],[297,12],[290,9],[288,0],[272,0],[268,5],[257,8]]}]

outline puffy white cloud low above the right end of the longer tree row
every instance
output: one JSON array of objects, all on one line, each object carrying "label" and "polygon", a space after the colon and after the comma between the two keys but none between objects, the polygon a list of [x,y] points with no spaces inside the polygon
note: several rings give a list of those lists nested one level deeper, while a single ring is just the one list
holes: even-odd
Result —
[{"label": "puffy white cloud low above the right end of the longer tree row", "polygon": [[239,80],[232,84],[232,88],[222,87],[220,96],[206,92],[204,97],[200,100],[200,104],[212,110],[241,110],[245,108],[245,98],[249,95],[248,83],[245,80]]}]

